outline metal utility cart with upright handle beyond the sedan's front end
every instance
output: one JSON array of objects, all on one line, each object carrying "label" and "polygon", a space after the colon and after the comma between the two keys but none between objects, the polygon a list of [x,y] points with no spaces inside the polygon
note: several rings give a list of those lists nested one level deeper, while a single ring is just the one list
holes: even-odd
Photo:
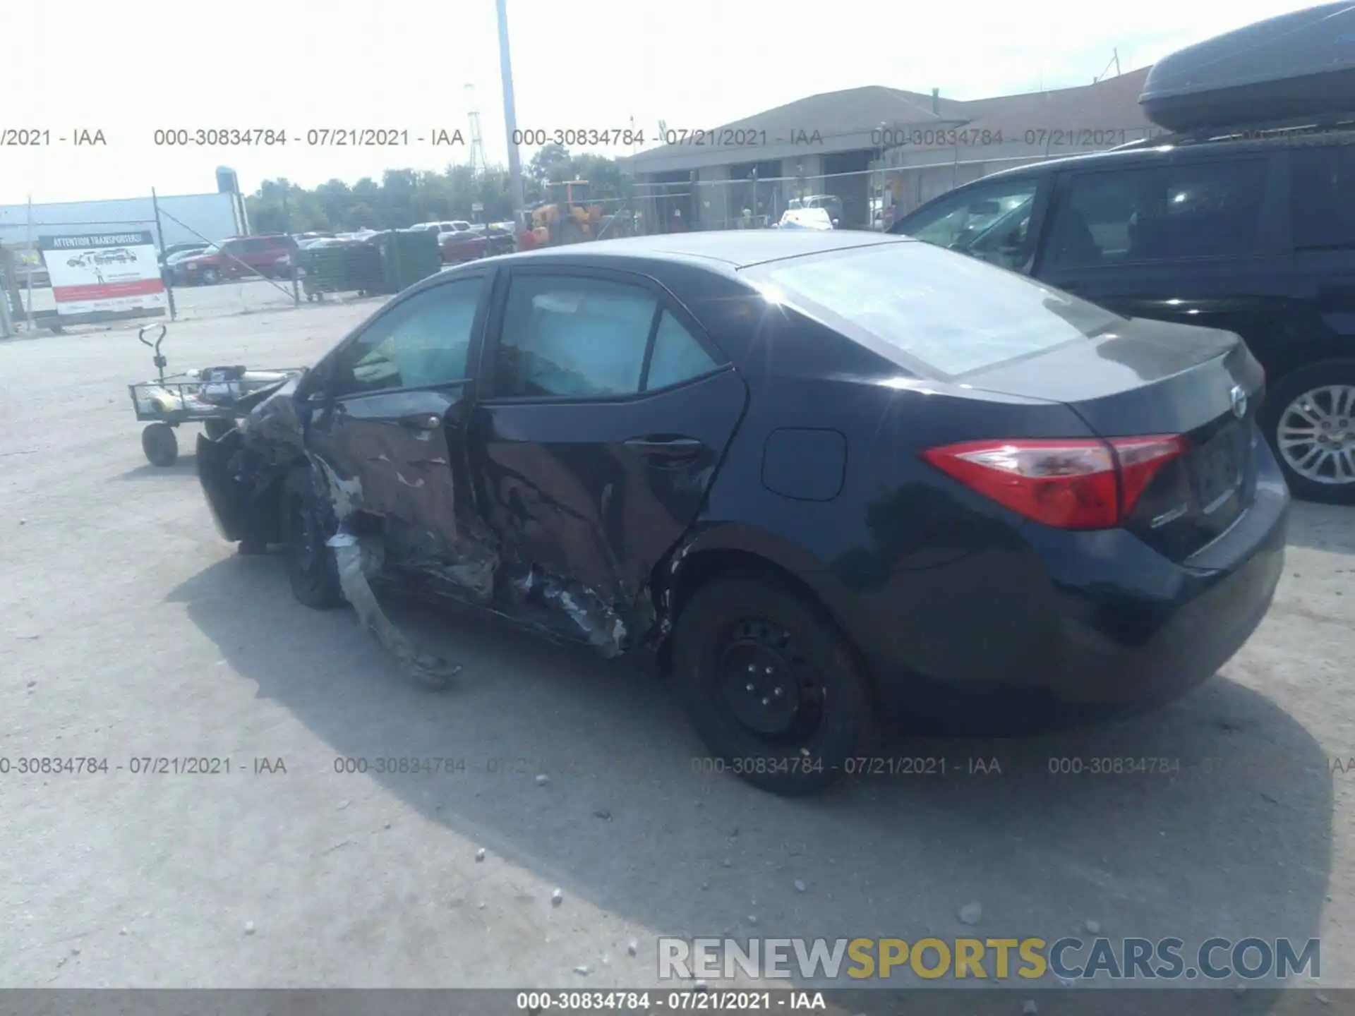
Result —
[{"label": "metal utility cart with upright handle beyond the sedan's front end", "polygon": [[179,440],[173,428],[183,423],[201,423],[207,436],[217,440],[236,425],[244,410],[236,404],[244,396],[262,387],[276,385],[289,378],[301,377],[304,368],[283,367],[280,370],[245,370],[233,367],[205,367],[182,374],[165,374],[168,360],[160,352],[165,340],[164,325],[152,343],[146,332],[137,332],[137,340],[154,351],[153,363],[157,378],[127,385],[131,406],[137,419],[146,421],[141,431],[141,450],[152,466],[172,466],[179,458]]}]

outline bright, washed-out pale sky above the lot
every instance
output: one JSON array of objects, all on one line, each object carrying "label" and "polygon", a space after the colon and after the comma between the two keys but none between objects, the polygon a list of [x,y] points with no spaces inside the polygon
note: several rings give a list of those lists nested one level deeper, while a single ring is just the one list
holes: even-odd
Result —
[{"label": "bright, washed-out pale sky above the lot", "polygon": [[[1285,0],[928,4],[869,0],[508,0],[518,126],[713,127],[817,92],[934,87],[955,99],[1088,84],[1285,11]],[[379,179],[440,169],[467,149],[474,85],[491,163],[505,160],[493,0],[0,0],[0,205],[214,191],[230,165],[252,191],[286,176]],[[810,125],[813,126],[813,125]],[[1039,126],[1039,125],[1035,125]],[[1095,126],[1095,125],[1091,125]],[[157,129],[280,129],[285,148],[164,148]],[[316,129],[409,131],[400,148],[308,148]],[[103,148],[58,137],[102,130]],[[299,142],[299,144],[298,144]],[[533,149],[523,150],[523,158]],[[630,149],[611,149],[629,154]]]}]

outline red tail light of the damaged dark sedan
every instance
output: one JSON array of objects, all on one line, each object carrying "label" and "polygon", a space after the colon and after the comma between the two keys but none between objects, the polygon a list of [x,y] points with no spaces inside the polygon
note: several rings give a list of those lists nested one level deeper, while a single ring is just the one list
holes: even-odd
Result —
[{"label": "red tail light of the damaged dark sedan", "polygon": [[1184,450],[1173,435],[1014,439],[947,444],[923,458],[1027,519],[1061,530],[1110,530]]}]

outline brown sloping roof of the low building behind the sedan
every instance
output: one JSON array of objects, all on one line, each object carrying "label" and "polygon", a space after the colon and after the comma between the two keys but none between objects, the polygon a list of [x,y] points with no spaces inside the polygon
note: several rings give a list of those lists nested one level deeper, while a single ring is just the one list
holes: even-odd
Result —
[{"label": "brown sloping roof of the low building behind the sedan", "polygon": [[[804,153],[806,148],[802,138],[814,131],[818,138],[812,142],[812,150],[850,152],[881,148],[879,127],[1000,130],[1004,140],[1024,140],[1027,131],[1033,130],[1065,134],[1137,130],[1150,126],[1138,107],[1148,70],[1149,68],[1141,68],[1076,88],[991,99],[934,99],[921,92],[883,85],[824,92],[730,123],[714,127],[707,125],[706,137],[701,140],[695,140],[692,129],[687,127],[682,131],[686,135],[684,144],[661,145],[619,161],[631,172],[648,173],[751,158],[778,158],[793,154],[797,138],[801,142],[794,153]],[[669,125],[669,131],[673,130],[676,126]],[[714,144],[722,141],[726,131],[756,131],[759,137],[755,144]],[[766,131],[766,138],[760,135],[762,131]]]}]

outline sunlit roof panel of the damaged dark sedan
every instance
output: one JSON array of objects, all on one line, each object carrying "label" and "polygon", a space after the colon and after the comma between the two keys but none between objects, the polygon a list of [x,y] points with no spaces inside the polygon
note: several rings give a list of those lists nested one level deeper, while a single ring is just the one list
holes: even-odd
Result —
[{"label": "sunlit roof panel of the damaged dark sedan", "polygon": [[607,260],[644,259],[660,261],[699,261],[706,267],[745,268],[763,261],[825,251],[846,251],[878,244],[916,242],[909,237],[882,236],[864,230],[786,230],[722,229],[699,233],[667,233],[642,237],[618,237],[589,244],[566,244],[524,251],[496,257],[496,261],[549,261],[557,259],[604,263]]}]

